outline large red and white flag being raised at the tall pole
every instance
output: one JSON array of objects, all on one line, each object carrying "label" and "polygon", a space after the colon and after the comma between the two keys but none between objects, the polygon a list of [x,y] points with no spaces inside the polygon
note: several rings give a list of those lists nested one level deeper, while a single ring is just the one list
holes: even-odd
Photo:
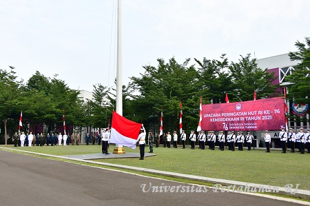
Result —
[{"label": "large red and white flag being raised at the tall pole", "polygon": [[135,123],[113,111],[110,143],[136,149],[136,140],[141,130],[141,123]]}]

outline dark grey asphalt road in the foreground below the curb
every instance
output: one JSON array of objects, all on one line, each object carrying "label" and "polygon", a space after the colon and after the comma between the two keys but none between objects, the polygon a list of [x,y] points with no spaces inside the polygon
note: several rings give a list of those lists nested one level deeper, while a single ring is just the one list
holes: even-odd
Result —
[{"label": "dark grey asphalt road in the foreground below the curb", "polygon": [[[0,174],[1,205],[298,205],[210,188],[185,193],[193,186],[1,150]],[[180,190],[143,192],[143,184]]]}]

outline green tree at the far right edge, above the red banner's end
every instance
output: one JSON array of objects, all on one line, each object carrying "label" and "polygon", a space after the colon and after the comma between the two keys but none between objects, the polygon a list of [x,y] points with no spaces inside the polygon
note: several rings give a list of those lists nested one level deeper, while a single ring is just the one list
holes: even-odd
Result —
[{"label": "green tree at the far right edge, above the red banner's end", "polygon": [[296,41],[298,52],[289,52],[291,61],[300,61],[295,70],[286,79],[291,84],[288,85],[289,93],[287,98],[294,99],[298,104],[307,103],[310,105],[310,37],[305,38],[306,43]]}]

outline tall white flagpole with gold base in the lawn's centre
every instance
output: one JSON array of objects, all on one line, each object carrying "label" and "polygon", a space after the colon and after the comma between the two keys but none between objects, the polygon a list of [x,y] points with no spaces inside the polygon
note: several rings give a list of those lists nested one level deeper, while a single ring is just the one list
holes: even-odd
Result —
[{"label": "tall white flagpole with gold base in the lawn's centre", "polygon": [[[122,82],[122,30],[121,0],[117,1],[117,64],[116,64],[116,112],[123,116],[123,82]],[[113,154],[125,154],[123,145],[115,145]]]}]

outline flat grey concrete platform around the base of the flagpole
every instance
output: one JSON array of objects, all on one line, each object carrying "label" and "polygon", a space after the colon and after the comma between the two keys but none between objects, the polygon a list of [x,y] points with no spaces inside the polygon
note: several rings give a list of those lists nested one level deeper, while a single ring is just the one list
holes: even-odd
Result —
[{"label": "flat grey concrete platform around the base of the flagpole", "polygon": [[[148,156],[156,156],[154,153],[145,153],[144,157]],[[96,153],[96,154],[81,154],[81,155],[68,155],[65,157],[70,158],[79,158],[83,160],[94,160],[99,158],[140,158],[140,153],[134,153],[134,152],[127,152],[125,154],[102,154],[102,153]]]}]

